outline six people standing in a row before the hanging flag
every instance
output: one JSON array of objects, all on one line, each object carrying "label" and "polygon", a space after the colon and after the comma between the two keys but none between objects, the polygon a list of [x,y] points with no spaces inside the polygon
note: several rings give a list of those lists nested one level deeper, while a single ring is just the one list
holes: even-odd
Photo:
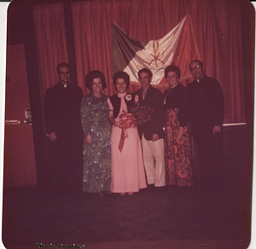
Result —
[{"label": "six people standing in a row before the hanging flag", "polygon": [[[164,94],[150,84],[148,68],[137,73],[142,87],[132,94],[129,75],[116,72],[117,93],[110,97],[102,94],[104,74],[91,71],[85,77],[90,94],[83,97],[79,86],[69,83],[69,65],[59,64],[60,81],[46,91],[44,113],[49,140],[57,148],[61,188],[102,196],[131,195],[166,184],[193,186],[190,134],[198,148],[201,179],[217,176],[223,92],[216,79],[207,77],[201,61],[191,61],[189,69],[195,81],[184,87],[179,68],[166,67],[169,88]],[[127,126],[122,117],[138,105],[153,110],[151,119]]]}]

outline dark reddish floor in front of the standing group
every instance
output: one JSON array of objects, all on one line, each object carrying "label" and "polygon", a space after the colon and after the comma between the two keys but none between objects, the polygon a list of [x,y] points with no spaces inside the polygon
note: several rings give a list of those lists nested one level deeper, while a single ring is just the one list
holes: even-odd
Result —
[{"label": "dark reddish floor in front of the standing group", "polygon": [[6,248],[52,243],[77,248],[240,249],[249,244],[250,219],[251,182],[242,175],[218,188],[167,186],[132,196],[5,188],[3,244]]}]

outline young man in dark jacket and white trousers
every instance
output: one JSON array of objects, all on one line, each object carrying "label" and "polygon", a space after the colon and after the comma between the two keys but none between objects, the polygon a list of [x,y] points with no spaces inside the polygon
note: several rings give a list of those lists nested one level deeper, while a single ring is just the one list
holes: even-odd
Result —
[{"label": "young man in dark jacket and white trousers", "polygon": [[138,127],[147,181],[148,185],[162,187],[166,185],[163,96],[160,90],[150,84],[152,72],[148,68],[140,70],[138,78],[142,85],[142,88],[135,92],[135,95],[139,96],[139,103],[154,109],[152,119]]}]

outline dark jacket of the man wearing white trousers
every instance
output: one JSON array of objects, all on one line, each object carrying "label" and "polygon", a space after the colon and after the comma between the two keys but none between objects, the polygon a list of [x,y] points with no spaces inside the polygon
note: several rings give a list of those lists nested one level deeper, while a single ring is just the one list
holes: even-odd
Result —
[{"label": "dark jacket of the man wearing white trousers", "polygon": [[164,99],[160,90],[155,89],[152,85],[149,86],[147,95],[143,100],[143,89],[137,90],[135,93],[139,97],[139,103],[149,105],[154,109],[152,119],[144,125],[138,126],[140,138],[144,135],[146,140],[152,140],[152,135],[157,134],[159,138],[164,138]]}]

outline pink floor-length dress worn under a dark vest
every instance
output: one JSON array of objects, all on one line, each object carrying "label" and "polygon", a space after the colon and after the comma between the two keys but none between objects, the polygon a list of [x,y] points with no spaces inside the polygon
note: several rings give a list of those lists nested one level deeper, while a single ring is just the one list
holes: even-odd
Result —
[{"label": "pink floor-length dress worn under a dark vest", "polygon": [[[121,98],[119,115],[125,111],[125,94],[118,93]],[[113,105],[108,98],[108,106],[113,110]],[[119,116],[114,119],[119,122]],[[138,136],[137,127],[126,129],[128,137],[122,152],[119,151],[119,141],[122,129],[112,125],[111,133],[111,160],[112,177],[111,191],[113,193],[138,192],[140,188],[147,188],[141,141]]]}]

